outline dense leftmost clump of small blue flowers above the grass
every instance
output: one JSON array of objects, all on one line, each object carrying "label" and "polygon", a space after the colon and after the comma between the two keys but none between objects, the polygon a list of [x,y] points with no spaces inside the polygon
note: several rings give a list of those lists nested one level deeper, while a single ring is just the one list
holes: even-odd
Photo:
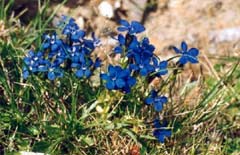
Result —
[{"label": "dense leftmost clump of small blue flowers above the grass", "polygon": [[89,78],[92,71],[100,67],[100,59],[93,61],[90,56],[100,40],[94,34],[91,39],[86,39],[85,31],[72,18],[63,16],[61,26],[64,39],[60,39],[55,32],[45,34],[40,51],[28,52],[24,58],[24,79],[31,73],[45,73],[49,80],[54,80],[63,77],[64,71],[69,70],[74,71],[79,78]]}]

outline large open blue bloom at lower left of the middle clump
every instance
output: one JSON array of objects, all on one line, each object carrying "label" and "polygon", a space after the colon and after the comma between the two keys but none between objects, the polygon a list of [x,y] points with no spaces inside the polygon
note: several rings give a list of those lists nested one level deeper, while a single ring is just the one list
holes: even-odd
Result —
[{"label": "large open blue bloom at lower left of the middle clump", "polygon": [[123,90],[126,93],[136,84],[136,79],[130,76],[130,71],[120,66],[109,65],[108,73],[101,74],[101,79],[106,81],[107,89]]}]

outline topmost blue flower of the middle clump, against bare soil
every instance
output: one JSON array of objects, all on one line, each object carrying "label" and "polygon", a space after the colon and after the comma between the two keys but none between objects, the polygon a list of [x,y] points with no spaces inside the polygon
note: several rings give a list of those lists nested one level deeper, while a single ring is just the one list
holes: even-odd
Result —
[{"label": "topmost blue flower of the middle clump, against bare soil", "polygon": [[129,34],[137,34],[145,31],[145,28],[142,24],[137,21],[132,21],[131,24],[126,20],[120,20],[120,27],[117,28],[118,31],[128,31]]}]

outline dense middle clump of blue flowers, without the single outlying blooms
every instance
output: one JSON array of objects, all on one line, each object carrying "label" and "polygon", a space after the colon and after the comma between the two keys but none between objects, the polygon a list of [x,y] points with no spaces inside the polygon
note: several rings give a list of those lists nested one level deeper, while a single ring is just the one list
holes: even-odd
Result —
[{"label": "dense middle clump of blue flowers, without the single outlying blooms", "polygon": [[[106,88],[107,89],[115,89],[115,90],[123,90],[125,93],[130,92],[130,88],[134,86],[136,83],[135,77],[131,75],[140,74],[140,76],[150,76],[154,73],[154,76],[160,77],[161,75],[167,74],[167,61],[159,61],[159,58],[154,55],[155,47],[149,43],[149,39],[147,37],[142,40],[138,40],[136,34],[141,33],[145,30],[144,26],[141,25],[137,21],[132,21],[131,23],[126,20],[120,21],[121,26],[118,27],[118,31],[125,32],[125,35],[120,33],[118,37],[115,38],[118,42],[118,45],[114,48],[114,54],[121,54],[122,57],[127,58],[127,62],[124,65],[125,68],[121,68],[120,66],[110,67],[108,69],[109,76],[112,78],[106,78],[106,74],[102,74],[102,79],[106,80]],[[117,80],[115,72],[119,72],[120,70],[124,71],[125,78],[124,81],[121,79]],[[120,72],[122,72],[120,71]],[[121,77],[121,74],[117,77]],[[131,79],[129,84],[129,79]],[[115,86],[113,87],[112,81],[116,81]],[[121,83],[125,83],[124,89],[119,87]],[[110,85],[111,84],[111,85]]]}]

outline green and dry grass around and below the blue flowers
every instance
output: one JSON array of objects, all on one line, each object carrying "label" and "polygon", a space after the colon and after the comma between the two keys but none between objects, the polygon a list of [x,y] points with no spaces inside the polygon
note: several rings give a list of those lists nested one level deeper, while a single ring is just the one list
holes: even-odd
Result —
[{"label": "green and dry grass around and below the blue flowers", "polygon": [[[23,80],[22,59],[39,47],[58,7],[47,16],[49,3],[39,4],[36,18],[22,26],[18,17],[7,15],[14,2],[0,3],[0,20],[8,30],[0,36],[0,154],[127,154],[134,145],[143,155],[240,153],[238,58],[219,60],[213,68],[218,77],[200,75],[191,82],[184,80],[184,71],[170,76],[162,88],[170,101],[155,114],[140,101],[141,86],[124,95],[71,74],[54,82],[38,76]],[[173,130],[164,144],[148,123],[156,115]]]}]

